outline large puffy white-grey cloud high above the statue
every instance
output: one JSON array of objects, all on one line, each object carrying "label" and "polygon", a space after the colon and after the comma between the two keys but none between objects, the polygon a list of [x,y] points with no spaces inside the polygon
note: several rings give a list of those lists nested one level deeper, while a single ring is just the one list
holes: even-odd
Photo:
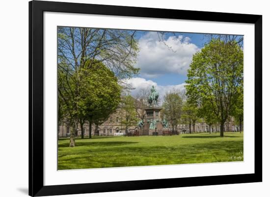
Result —
[{"label": "large puffy white-grey cloud high above the statue", "polygon": [[148,32],[139,41],[139,55],[136,64],[143,77],[157,77],[162,74],[187,74],[192,55],[200,50],[190,43],[189,37],[170,36],[163,42],[157,32]]}]

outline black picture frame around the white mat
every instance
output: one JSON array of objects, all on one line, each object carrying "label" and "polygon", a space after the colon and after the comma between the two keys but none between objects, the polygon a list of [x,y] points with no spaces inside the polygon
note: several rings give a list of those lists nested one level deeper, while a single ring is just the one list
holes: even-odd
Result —
[{"label": "black picture frame around the white mat", "polygon": [[[254,173],[70,185],[43,184],[43,12],[150,17],[249,23],[255,25],[255,169]],[[29,196],[219,185],[262,181],[262,16],[204,11],[83,4],[29,2]]]}]

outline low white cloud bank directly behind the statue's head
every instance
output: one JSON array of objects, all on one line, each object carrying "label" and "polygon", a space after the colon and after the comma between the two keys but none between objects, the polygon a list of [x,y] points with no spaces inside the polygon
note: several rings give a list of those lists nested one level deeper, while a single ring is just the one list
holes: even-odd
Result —
[{"label": "low white cloud bank directly behind the statue's head", "polygon": [[126,79],[126,83],[130,84],[130,86],[133,88],[133,90],[131,90],[131,95],[133,97],[135,97],[141,89],[147,89],[147,88],[150,89],[152,86],[155,86],[158,93],[160,94],[161,102],[167,92],[170,92],[172,90],[183,91],[185,90],[185,85],[186,85],[186,83],[182,83],[178,85],[161,86],[152,80],[146,80],[145,78],[141,78],[141,77],[134,77],[134,78]]}]

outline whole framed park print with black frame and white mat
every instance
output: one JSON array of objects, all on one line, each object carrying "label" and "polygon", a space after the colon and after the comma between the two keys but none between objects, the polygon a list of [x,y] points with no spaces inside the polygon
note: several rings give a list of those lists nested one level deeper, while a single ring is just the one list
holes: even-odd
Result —
[{"label": "whole framed park print with black frame and white mat", "polygon": [[29,2],[29,195],[262,181],[262,16]]}]

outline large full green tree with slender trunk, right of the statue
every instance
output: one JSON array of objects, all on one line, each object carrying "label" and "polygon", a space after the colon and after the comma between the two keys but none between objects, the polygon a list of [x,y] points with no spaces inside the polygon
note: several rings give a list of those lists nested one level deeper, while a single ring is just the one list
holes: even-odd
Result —
[{"label": "large full green tree with slender trunk, right of the statue", "polygon": [[198,103],[210,103],[220,123],[220,136],[224,123],[232,112],[243,89],[243,50],[236,42],[212,40],[192,57],[187,95],[196,95]]}]

